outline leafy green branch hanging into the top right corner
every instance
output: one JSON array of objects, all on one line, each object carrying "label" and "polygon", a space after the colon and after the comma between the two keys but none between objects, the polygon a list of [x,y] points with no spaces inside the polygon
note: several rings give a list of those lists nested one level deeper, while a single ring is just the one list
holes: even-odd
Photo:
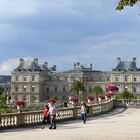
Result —
[{"label": "leafy green branch hanging into the top right corner", "polygon": [[134,6],[140,0],[120,0],[116,7],[116,10],[123,10],[126,6]]}]

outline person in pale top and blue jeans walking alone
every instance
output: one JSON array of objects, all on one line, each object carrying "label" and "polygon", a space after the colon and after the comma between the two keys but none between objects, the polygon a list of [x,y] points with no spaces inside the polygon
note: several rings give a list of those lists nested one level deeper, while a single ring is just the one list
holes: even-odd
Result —
[{"label": "person in pale top and blue jeans walking alone", "polygon": [[81,103],[81,118],[83,120],[83,123],[86,123],[86,118],[87,118],[87,109],[86,109],[86,105],[82,102]]}]

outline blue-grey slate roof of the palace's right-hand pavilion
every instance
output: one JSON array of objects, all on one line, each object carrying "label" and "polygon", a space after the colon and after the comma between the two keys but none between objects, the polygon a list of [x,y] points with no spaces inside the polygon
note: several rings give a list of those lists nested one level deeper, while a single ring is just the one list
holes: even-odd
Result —
[{"label": "blue-grey slate roof of the palace's right-hand pavilion", "polygon": [[135,61],[120,61],[113,71],[138,71]]}]

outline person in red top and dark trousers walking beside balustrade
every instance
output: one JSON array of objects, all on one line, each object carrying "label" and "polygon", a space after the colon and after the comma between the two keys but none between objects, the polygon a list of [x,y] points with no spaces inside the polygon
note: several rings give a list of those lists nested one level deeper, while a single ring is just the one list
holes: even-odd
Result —
[{"label": "person in red top and dark trousers walking beside balustrade", "polygon": [[43,121],[42,121],[42,129],[44,129],[44,126],[45,126],[45,122],[47,120],[47,123],[50,124],[50,113],[49,113],[49,107],[48,105],[46,105],[44,111],[43,111]]}]

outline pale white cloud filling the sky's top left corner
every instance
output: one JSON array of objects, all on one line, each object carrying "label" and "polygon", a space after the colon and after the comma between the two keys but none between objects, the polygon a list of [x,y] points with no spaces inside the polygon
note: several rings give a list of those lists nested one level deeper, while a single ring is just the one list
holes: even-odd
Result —
[{"label": "pale white cloud filling the sky's top left corner", "polygon": [[37,12],[37,3],[33,0],[1,0],[0,17],[13,18],[16,16],[28,16]]}]

